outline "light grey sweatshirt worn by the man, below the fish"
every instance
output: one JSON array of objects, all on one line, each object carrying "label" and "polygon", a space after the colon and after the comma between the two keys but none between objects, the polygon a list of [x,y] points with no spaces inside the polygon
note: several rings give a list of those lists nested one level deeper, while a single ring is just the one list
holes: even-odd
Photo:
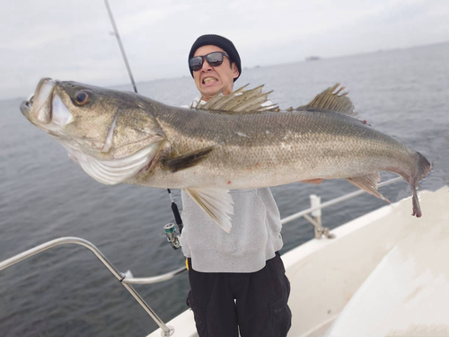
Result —
[{"label": "light grey sweatshirt worn by the man, below the fish", "polygon": [[254,272],[282,248],[279,210],[269,188],[232,190],[233,228],[226,233],[182,191],[182,253],[201,272]]}]

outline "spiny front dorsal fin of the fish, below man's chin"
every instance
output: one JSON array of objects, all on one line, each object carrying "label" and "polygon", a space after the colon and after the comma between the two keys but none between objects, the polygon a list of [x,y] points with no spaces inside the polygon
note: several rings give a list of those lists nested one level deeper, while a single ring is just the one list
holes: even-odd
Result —
[{"label": "spiny front dorsal fin of the fish, below man's chin", "polygon": [[[195,109],[207,111],[228,111],[235,113],[248,113],[254,111],[280,111],[276,104],[269,102],[269,93],[262,93],[263,85],[250,90],[243,90],[248,84],[243,85],[233,93],[217,94],[206,104],[197,104]],[[267,104],[269,102],[269,104]],[[265,106],[261,106],[266,104]]]}]

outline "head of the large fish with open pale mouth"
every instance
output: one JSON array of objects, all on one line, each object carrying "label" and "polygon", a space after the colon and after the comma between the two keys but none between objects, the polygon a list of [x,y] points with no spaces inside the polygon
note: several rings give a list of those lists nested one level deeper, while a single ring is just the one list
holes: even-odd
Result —
[{"label": "head of the large fish with open pale mouth", "polygon": [[22,114],[98,182],[147,172],[165,137],[135,93],[43,78]]}]

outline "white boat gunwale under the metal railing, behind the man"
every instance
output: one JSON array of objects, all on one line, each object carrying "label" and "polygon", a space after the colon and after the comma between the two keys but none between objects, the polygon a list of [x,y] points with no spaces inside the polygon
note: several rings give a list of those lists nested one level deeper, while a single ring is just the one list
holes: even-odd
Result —
[{"label": "white boat gunwale under the metal railing, behind the man", "polygon": [[[288,337],[321,337],[348,301],[401,240],[423,226],[449,224],[449,187],[421,191],[423,216],[411,216],[411,198],[378,208],[331,231],[333,239],[313,239],[282,255],[293,314]],[[449,247],[449,244],[447,244]],[[449,249],[448,249],[449,250]],[[449,275],[448,275],[449,276]],[[186,310],[167,325],[172,336],[198,337],[193,313]],[[147,337],[160,337],[157,329]]]}]

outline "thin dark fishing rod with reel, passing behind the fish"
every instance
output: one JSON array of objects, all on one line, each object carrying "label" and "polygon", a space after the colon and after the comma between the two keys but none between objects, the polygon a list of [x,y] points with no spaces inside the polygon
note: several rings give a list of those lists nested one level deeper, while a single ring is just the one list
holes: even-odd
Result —
[{"label": "thin dark fishing rod with reel, passing behind the fish", "polygon": [[[112,15],[112,11],[110,10],[110,4],[108,0],[104,0],[104,4],[106,5],[106,9],[108,10],[108,14],[110,16],[110,23],[112,23],[112,28],[114,29],[114,36],[116,37],[117,42],[119,42],[121,56],[125,61],[125,65],[127,66],[129,79],[131,80],[131,84],[133,84],[134,92],[137,93],[136,82],[134,81],[134,77],[131,72],[131,67],[129,67],[127,54],[125,52],[125,49],[123,48],[123,44],[121,43],[119,29],[115,24],[114,16]],[[180,234],[182,233],[182,228],[184,227],[184,225],[182,224],[182,219],[180,218],[180,210],[178,209],[178,205],[176,205],[176,203],[173,200],[172,191],[170,191],[170,189],[167,189],[167,191],[169,193],[170,200],[172,201],[172,212],[174,219],[176,221],[176,225],[178,226],[179,234],[176,232],[176,228],[172,223],[163,226],[163,229],[165,231],[165,235],[167,236],[167,241],[172,245],[173,249],[178,249],[180,248]]]}]

